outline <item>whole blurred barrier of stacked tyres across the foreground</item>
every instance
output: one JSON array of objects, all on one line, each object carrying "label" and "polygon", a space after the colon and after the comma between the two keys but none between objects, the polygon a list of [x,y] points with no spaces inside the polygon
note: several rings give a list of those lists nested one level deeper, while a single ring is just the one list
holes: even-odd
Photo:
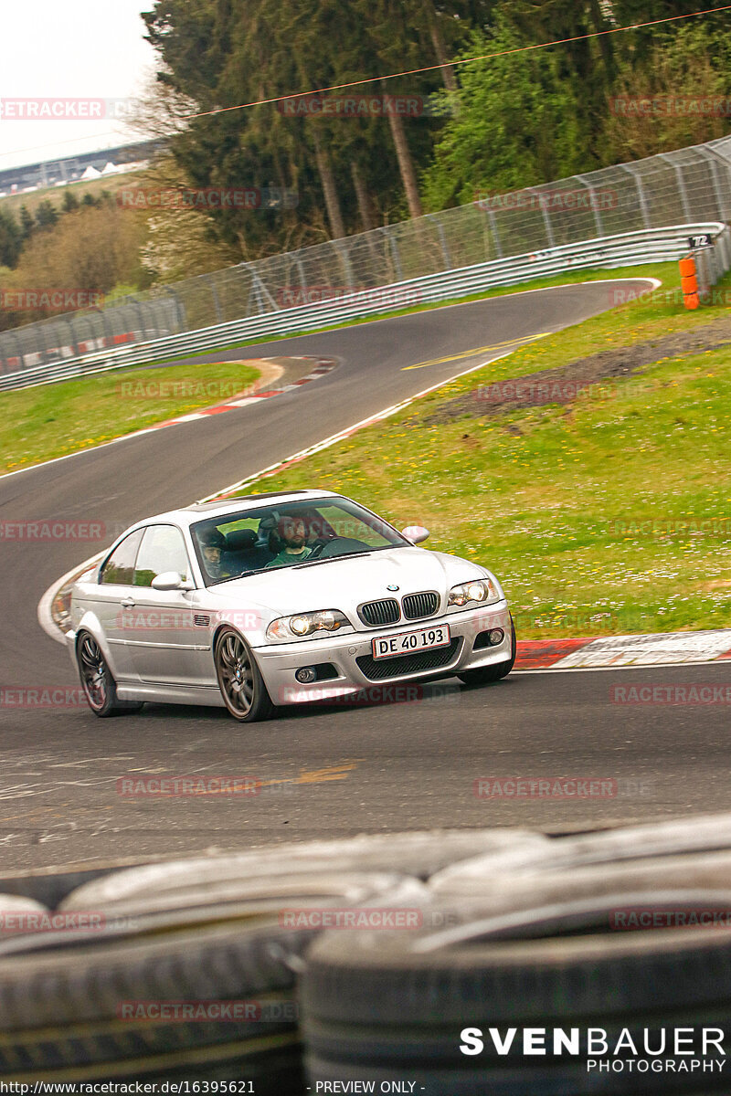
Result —
[{"label": "whole blurred barrier of stacked tyres across the foreground", "polygon": [[[656,1052],[663,1030],[672,1043],[676,1027],[731,1027],[731,814],[558,837],[361,836],[0,880],[11,889],[0,893],[3,1083],[728,1092],[722,1071],[630,1069],[628,1039],[641,1047],[647,1029]],[[49,931],[4,931],[43,915],[41,895],[55,898]],[[347,927],[344,911],[368,927]],[[698,911],[728,917],[692,929]],[[404,912],[408,924],[389,927]],[[643,912],[660,927],[629,931],[646,927]],[[69,932],[64,920],[84,913],[101,923]],[[250,1014],[181,1015],[212,1004]],[[491,1028],[501,1040],[515,1029],[510,1046]],[[525,1028],[549,1032],[548,1053],[524,1053]],[[570,1043],[578,1031],[580,1052],[555,1053],[555,1028]],[[610,1048],[624,1040],[609,1051],[620,1070],[587,1071],[589,1028]],[[681,1061],[670,1043],[663,1057]]]}]

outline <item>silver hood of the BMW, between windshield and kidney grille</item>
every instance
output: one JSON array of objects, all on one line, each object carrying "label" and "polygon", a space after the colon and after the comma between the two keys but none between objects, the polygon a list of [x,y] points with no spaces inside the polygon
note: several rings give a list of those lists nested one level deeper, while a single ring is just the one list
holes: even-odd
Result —
[{"label": "silver hood of the BMW, between windshield and kidney grille", "polygon": [[[435,590],[439,595],[458,582],[484,574],[476,563],[427,551],[424,548],[391,548],[351,559],[332,559],[311,567],[271,568],[249,578],[232,579],[209,587],[217,603],[256,604],[271,610],[272,619],[312,609],[341,609],[356,628],[363,627],[355,609],[363,602]],[[444,607],[444,600],[442,601]]]}]

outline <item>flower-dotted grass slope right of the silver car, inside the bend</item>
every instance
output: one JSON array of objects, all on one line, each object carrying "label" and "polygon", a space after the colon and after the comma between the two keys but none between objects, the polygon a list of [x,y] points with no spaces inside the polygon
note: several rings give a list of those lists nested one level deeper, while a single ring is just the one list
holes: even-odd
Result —
[{"label": "flower-dotted grass slope right of the silver car, inside the bend", "polygon": [[727,315],[656,297],[614,308],[445,385],[261,489],[319,486],[400,527],[426,525],[430,547],[498,573],[524,639],[731,627],[731,346],[665,359],[659,349],[640,373],[568,403],[487,414],[476,399],[475,412],[425,421],[481,385]]}]

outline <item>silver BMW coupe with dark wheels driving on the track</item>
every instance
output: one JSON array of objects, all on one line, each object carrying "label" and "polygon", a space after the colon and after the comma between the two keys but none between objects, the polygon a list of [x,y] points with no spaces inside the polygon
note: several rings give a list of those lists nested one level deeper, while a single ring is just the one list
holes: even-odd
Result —
[{"label": "silver BMW coupe with dark wheels driving on the track", "polygon": [[289,491],[138,522],[77,581],[67,641],[98,716],[146,700],[281,705],[504,677],[515,631],[491,571],[416,547],[351,499]]}]

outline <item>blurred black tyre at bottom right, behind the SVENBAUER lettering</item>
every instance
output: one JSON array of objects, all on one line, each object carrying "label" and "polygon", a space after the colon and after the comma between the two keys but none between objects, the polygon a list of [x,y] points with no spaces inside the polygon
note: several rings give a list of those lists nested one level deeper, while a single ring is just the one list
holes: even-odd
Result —
[{"label": "blurred black tyre at bottom right, behind the SVENBAUER lettering", "polygon": [[[599,871],[594,875],[601,878]],[[717,869],[706,868],[687,884],[669,886],[658,904],[674,911],[731,910],[728,855],[724,877],[709,890],[708,881],[717,879]],[[718,927],[609,932],[618,903],[647,909],[658,901],[652,882],[663,884],[660,863],[644,892],[635,889],[632,878],[623,881],[620,868],[617,891],[598,898],[589,880],[572,887],[572,878],[563,877],[563,893],[586,892],[575,901],[557,898],[558,876],[546,894],[539,880],[534,876],[534,901],[550,898],[555,904],[548,912],[530,909],[525,893],[506,893],[502,902],[460,906],[455,916],[461,924],[453,921],[447,928],[320,937],[307,956],[300,985],[310,1084],[400,1078],[418,1081],[430,1096],[694,1091],[698,1077],[693,1074],[679,1081],[667,1072],[592,1075],[585,1048],[573,1058],[555,1058],[549,1049],[537,1063],[523,1055],[521,1028],[605,1028],[610,1047],[623,1028],[638,1047],[644,1028],[723,1028],[731,1019],[731,934]],[[701,889],[692,890],[694,883]],[[425,925],[431,913],[442,918],[444,910],[425,909]],[[574,933],[581,935],[566,935]],[[517,1027],[517,1037],[501,1057],[488,1031],[498,1028],[502,1038],[509,1026]],[[479,1055],[461,1053],[465,1028],[483,1032]],[[708,1091],[727,1084],[717,1074]]]}]

